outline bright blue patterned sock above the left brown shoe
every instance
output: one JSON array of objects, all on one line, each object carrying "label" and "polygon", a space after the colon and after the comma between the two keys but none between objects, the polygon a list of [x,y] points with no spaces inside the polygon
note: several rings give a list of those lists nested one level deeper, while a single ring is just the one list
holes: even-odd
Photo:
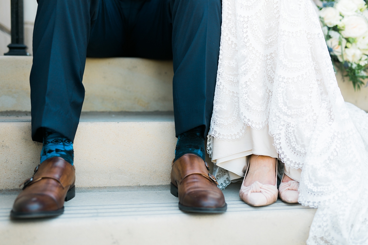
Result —
[{"label": "bright blue patterned sock above the left brown shoe", "polygon": [[44,128],[40,162],[42,163],[54,156],[64,158],[65,161],[73,165],[73,143],[60,133]]}]

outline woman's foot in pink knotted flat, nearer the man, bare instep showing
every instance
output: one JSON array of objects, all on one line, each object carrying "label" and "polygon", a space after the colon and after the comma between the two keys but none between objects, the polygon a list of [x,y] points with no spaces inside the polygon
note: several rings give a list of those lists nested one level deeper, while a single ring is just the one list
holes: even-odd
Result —
[{"label": "woman's foot in pink knotted flat, nearer the man, bare instep showing", "polygon": [[276,159],[251,155],[240,198],[252,206],[266,206],[277,200]]}]

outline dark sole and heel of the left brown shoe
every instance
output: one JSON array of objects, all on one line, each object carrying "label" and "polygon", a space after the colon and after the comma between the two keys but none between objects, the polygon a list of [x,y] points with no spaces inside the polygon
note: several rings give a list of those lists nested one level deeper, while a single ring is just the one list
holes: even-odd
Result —
[{"label": "dark sole and heel of the left brown shoe", "polygon": [[[75,197],[75,185],[68,190],[67,195],[64,201],[69,201]],[[64,207],[58,210],[51,211],[39,211],[39,212],[15,212],[13,210],[10,211],[10,217],[12,219],[41,219],[41,218],[49,218],[62,215],[64,213]]]}]

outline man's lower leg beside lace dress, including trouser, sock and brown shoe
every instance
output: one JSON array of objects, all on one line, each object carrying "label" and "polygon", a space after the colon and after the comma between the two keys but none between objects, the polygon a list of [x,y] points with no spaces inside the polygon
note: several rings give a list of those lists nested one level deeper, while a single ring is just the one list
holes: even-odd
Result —
[{"label": "man's lower leg beside lace dress, including trouser, sock and brown shoe", "polygon": [[178,136],[171,193],[178,196],[183,211],[224,212],[227,208],[224,196],[215,177],[204,169],[204,140],[200,142],[208,134],[212,116],[220,51],[221,1],[171,0],[171,11]]}]

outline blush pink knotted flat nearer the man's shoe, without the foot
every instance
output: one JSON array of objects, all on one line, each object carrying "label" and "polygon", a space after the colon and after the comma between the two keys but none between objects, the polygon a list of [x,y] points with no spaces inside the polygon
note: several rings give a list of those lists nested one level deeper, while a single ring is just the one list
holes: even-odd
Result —
[{"label": "blush pink knotted flat nearer the man's shoe, without the foot", "polygon": [[[247,172],[245,172],[245,176],[247,176],[249,165],[250,164],[248,163]],[[276,174],[277,174],[277,162],[276,162]],[[245,176],[239,191],[239,197],[245,203],[252,206],[267,206],[276,202],[278,194],[277,181],[275,185],[261,184],[258,181],[255,181],[251,186],[247,187],[244,185]]]}]

